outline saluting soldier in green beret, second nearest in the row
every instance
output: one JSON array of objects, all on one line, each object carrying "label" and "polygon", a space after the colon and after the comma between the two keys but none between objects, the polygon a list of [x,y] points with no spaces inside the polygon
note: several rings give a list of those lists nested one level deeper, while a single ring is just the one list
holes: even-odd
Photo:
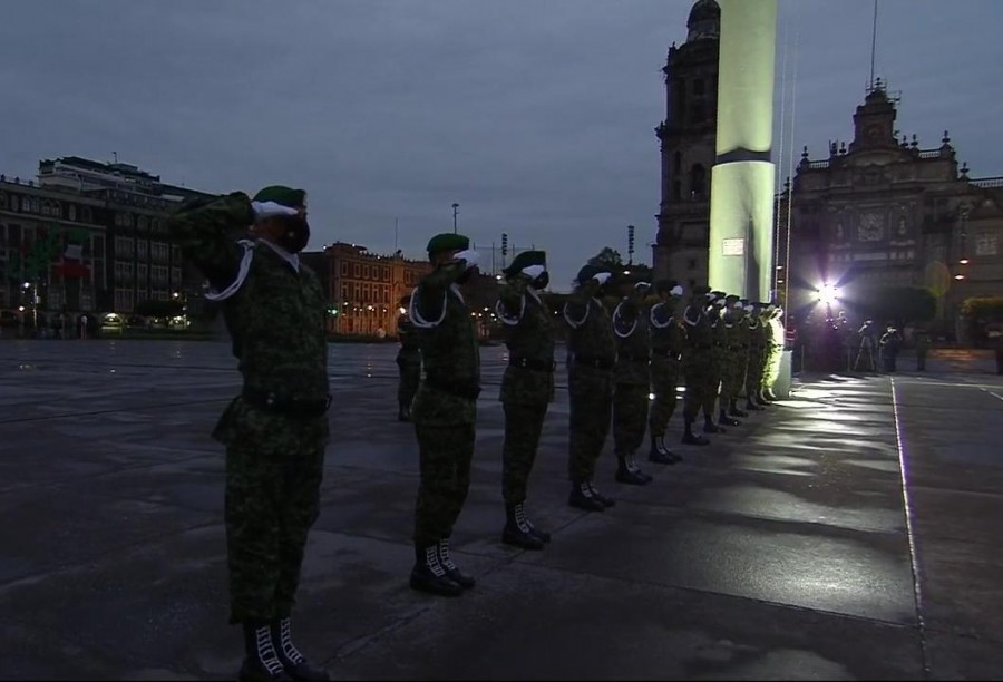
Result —
[{"label": "saluting soldier in green beret, second nearest in the row", "polygon": [[470,487],[476,442],[480,349],[459,285],[477,269],[470,240],[446,233],[428,242],[435,267],[411,293],[425,380],[411,405],[421,484],[415,509],[412,590],[458,596],[476,582],[449,554],[449,537]]}]

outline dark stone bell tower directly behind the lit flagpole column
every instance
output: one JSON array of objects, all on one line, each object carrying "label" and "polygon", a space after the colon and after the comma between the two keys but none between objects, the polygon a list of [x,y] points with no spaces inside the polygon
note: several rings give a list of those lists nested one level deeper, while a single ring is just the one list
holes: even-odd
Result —
[{"label": "dark stone bell tower directly behind the lit flagpole column", "polygon": [[683,286],[707,282],[710,175],[718,118],[721,8],[699,0],[686,41],[672,43],[665,74],[665,120],[655,128],[662,152],[662,202],[652,262],[656,277]]}]

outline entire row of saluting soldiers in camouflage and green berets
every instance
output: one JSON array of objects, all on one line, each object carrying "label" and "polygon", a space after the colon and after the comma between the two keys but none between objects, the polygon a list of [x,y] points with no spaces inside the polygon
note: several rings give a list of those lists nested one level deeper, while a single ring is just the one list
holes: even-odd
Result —
[{"label": "entire row of saluting soldiers in camouflage and green berets", "polygon": [[[324,455],[331,440],[327,296],[317,274],[299,259],[310,240],[306,193],[273,185],[253,198],[243,192],[198,198],[182,206],[168,226],[185,257],[208,281],[206,298],[223,309],[243,378],[240,394],[213,430],[213,437],[226,447],[230,622],[242,625],[246,652],[238,679],[328,680],[328,673],[311,664],[294,644],[291,626],[308,534],[320,513]],[[246,238],[235,242],[230,236],[234,233]],[[409,302],[423,368],[409,403],[420,469],[410,584],[455,596],[475,586],[475,579],[454,562],[449,539],[466,500],[476,441],[479,345],[459,286],[474,273],[478,256],[469,240],[458,234],[432,237],[428,255],[434,269]],[[545,254],[520,254],[505,275],[498,308],[509,330],[509,364],[501,384],[507,509],[503,535],[520,547],[538,548],[551,538],[526,518],[525,500],[554,394],[553,315],[541,299],[548,283]],[[724,353],[733,345],[740,348],[741,338],[734,337],[739,341],[731,343],[727,332],[714,331],[715,318],[718,325],[723,321],[724,330],[741,327],[739,315],[744,312],[714,304],[721,299],[728,305],[733,298],[698,289],[680,323],[676,303],[682,292],[671,283],[655,285],[660,300],[651,305],[645,302],[649,288],[644,283],[622,283],[623,291],[616,293],[623,298],[611,315],[602,298],[613,286],[620,288],[621,282],[612,273],[586,266],[564,311],[571,351],[569,503],[596,512],[613,504],[593,485],[613,415],[620,462],[616,479],[640,485],[650,480],[634,464],[644,439],[649,372],[654,373],[656,387],[651,457],[668,464],[678,459],[662,441],[675,392],[674,368],[686,382],[684,439],[699,444],[704,440],[693,433],[692,423],[701,408],[709,416],[707,430],[720,428],[713,421],[714,372],[729,377],[719,417],[727,407],[730,413],[724,417],[731,419],[731,413],[740,413],[737,407],[732,410],[732,398],[739,397],[736,381],[741,383],[736,368],[746,367],[742,353]],[[757,313],[756,305],[751,312],[750,328],[756,329],[765,315]],[[719,333],[724,345],[714,345]],[[762,342],[757,345],[758,338],[750,331],[750,349],[765,348]],[[758,407],[768,398],[760,391],[763,367],[760,352],[750,350],[748,406]],[[736,370],[733,376],[729,368]]]}]

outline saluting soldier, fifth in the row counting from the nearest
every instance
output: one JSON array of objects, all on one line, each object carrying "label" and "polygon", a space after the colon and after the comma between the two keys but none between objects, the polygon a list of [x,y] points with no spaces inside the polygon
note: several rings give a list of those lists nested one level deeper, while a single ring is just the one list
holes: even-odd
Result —
[{"label": "saluting soldier, fifth in the row counting from the nearest", "polygon": [[616,455],[616,481],[632,486],[650,484],[652,477],[634,462],[634,454],[644,442],[647,401],[651,393],[651,337],[644,298],[651,284],[621,283],[623,295],[613,310],[616,334],[616,366],[613,370],[613,452]]}]

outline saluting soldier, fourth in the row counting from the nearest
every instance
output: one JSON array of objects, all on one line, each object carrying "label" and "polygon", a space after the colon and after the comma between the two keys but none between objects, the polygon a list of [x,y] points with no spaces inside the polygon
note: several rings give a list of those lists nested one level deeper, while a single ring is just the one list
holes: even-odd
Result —
[{"label": "saluting soldier, fourth in the row counting from the nearest", "polygon": [[613,368],[616,340],[602,298],[612,274],[597,265],[585,265],[575,277],[575,289],[564,304],[567,338],[567,392],[571,402],[568,475],[572,491],[567,504],[586,512],[603,512],[616,504],[592,483],[595,462],[613,417]]}]

